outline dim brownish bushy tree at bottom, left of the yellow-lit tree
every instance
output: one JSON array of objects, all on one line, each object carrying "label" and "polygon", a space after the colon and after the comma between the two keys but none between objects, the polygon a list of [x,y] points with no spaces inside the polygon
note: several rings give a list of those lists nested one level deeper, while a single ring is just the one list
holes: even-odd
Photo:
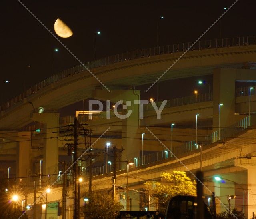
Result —
[{"label": "dim brownish bushy tree at bottom, left of the yellow-lit tree", "polygon": [[82,212],[86,217],[92,219],[112,219],[115,218],[116,211],[120,211],[123,205],[114,200],[112,196],[100,192],[91,192],[84,195],[88,199],[82,207]]}]

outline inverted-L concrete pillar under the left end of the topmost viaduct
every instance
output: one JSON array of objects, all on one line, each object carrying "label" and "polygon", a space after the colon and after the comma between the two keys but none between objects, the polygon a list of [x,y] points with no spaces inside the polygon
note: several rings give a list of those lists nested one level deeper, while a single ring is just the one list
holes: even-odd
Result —
[{"label": "inverted-L concrete pillar under the left end of the topmost viaduct", "polygon": [[[43,174],[51,175],[58,173],[58,113],[33,113],[32,119],[45,124],[44,130],[44,154],[43,154]],[[57,178],[52,177],[52,179]]]}]

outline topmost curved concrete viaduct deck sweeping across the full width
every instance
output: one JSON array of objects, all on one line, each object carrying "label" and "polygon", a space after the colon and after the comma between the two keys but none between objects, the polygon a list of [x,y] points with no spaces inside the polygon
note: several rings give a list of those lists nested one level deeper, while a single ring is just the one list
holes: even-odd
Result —
[{"label": "topmost curved concrete viaduct deck sweeping across the full width", "polygon": [[[256,45],[188,51],[161,80],[209,75],[213,74],[215,68],[254,68],[255,54]],[[181,55],[182,52],[149,56],[93,68],[91,71],[108,89],[123,89],[155,82]],[[30,113],[33,110],[58,110],[90,98],[92,90],[101,86],[87,70],[62,77],[54,83],[48,82],[47,86],[38,85],[32,95],[20,101],[7,103],[10,107],[1,111],[0,129],[18,129],[31,122]],[[16,103],[12,105],[13,102]]]}]

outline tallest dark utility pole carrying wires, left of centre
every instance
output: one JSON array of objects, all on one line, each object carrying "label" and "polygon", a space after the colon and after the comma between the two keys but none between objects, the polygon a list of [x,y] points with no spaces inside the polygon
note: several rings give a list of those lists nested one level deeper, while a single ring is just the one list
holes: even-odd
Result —
[{"label": "tallest dark utility pole carrying wires, left of centre", "polygon": [[79,219],[78,215],[78,177],[77,177],[77,159],[78,159],[78,121],[74,119],[74,165],[73,165],[73,182],[74,182],[74,219]]}]

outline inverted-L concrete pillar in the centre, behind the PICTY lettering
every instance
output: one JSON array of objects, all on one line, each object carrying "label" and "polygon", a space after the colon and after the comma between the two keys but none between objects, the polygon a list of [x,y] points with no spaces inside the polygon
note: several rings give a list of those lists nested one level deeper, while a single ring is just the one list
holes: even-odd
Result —
[{"label": "inverted-L concrete pillar in the centre, behind the PICTY lettering", "polygon": [[[132,159],[140,156],[140,136],[138,127],[139,121],[139,104],[134,104],[134,100],[140,100],[140,91],[138,90],[93,90],[92,98],[98,100],[110,100],[116,103],[123,101],[122,115],[126,115],[129,110],[132,113],[127,118],[122,118],[122,147],[124,148],[122,158]],[[131,106],[124,109],[127,101],[131,102]],[[111,131],[111,129],[110,129]]]}]

